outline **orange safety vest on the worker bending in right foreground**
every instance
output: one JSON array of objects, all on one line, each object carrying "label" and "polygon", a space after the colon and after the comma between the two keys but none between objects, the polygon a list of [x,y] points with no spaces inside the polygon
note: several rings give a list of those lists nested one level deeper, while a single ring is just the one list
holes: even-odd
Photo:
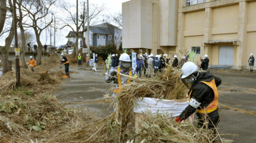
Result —
[{"label": "orange safety vest on the worker bending in right foreground", "polygon": [[[212,102],[204,109],[197,109],[196,111],[200,114],[204,114],[204,113],[210,113],[212,111],[215,111],[218,108],[218,98],[219,98],[219,93],[217,90],[217,86],[215,84],[215,80],[211,80],[210,82],[200,82],[200,83],[205,83],[207,86],[211,87],[211,89],[214,91],[214,99],[212,100]],[[192,90],[189,93],[189,102],[190,102],[190,96],[191,96]]]}]

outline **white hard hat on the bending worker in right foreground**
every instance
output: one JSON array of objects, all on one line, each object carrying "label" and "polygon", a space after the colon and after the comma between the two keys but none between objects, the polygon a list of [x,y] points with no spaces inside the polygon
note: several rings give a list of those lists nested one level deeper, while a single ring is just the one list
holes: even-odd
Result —
[{"label": "white hard hat on the bending worker in right foreground", "polygon": [[188,61],[182,66],[181,71],[181,79],[184,79],[187,78],[189,75],[193,74],[194,72],[198,71],[198,67],[195,63]]}]

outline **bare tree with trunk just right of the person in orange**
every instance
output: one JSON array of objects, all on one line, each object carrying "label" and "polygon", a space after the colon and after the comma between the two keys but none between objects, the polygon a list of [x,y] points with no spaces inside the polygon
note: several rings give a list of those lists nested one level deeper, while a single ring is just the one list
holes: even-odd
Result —
[{"label": "bare tree with trunk just right of the person in orange", "polygon": [[[23,11],[28,13],[28,17],[32,21],[31,23],[25,23],[25,27],[31,27],[34,29],[35,37],[38,44],[37,51],[37,64],[41,65],[41,57],[42,57],[42,43],[40,41],[40,35],[42,31],[49,27],[52,23],[53,19],[45,21],[46,16],[50,13],[49,8],[56,2],[57,0],[25,0],[22,3]],[[45,25],[42,24],[42,21],[45,21]]]}]

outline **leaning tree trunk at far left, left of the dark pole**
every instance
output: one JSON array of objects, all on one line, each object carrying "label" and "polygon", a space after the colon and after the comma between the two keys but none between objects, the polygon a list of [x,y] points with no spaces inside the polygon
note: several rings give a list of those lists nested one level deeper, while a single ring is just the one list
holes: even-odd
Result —
[{"label": "leaning tree trunk at far left, left of the dark pole", "polygon": [[9,49],[12,43],[12,39],[14,37],[14,22],[12,20],[12,26],[8,37],[5,39],[5,45],[2,48],[2,59],[3,59],[3,74],[8,71],[11,71],[10,63],[8,62]]}]

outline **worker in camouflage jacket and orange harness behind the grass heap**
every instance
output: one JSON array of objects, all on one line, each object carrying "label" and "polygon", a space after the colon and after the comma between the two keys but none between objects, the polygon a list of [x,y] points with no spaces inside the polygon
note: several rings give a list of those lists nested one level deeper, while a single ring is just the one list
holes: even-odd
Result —
[{"label": "worker in camouflage jacket and orange harness behind the grass heap", "polygon": [[[129,84],[131,82],[130,77],[138,78],[134,69],[131,69],[131,59],[127,53],[123,53],[119,58],[120,64],[117,67],[113,67],[109,70],[109,73],[105,73],[105,81],[107,83],[113,80],[113,94],[112,98],[116,96],[117,93],[122,91],[122,85]],[[128,75],[122,76],[123,75]],[[116,99],[114,104],[114,111],[116,111]]]}]

